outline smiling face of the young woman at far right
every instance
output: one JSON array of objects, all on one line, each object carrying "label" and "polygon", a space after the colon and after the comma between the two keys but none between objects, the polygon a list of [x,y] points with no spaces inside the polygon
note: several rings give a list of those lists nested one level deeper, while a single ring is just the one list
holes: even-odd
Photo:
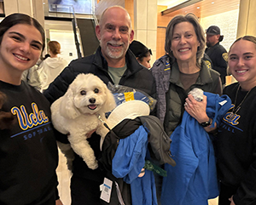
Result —
[{"label": "smiling face of the young woman at far right", "polygon": [[256,45],[242,39],[234,43],[229,53],[229,69],[241,88],[249,90],[256,86]]}]

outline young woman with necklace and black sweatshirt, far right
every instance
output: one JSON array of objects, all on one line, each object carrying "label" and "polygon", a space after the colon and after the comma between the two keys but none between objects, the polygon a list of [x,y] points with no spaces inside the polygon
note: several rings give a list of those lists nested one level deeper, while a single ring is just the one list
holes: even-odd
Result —
[{"label": "young woman with necklace and black sweatshirt, far right", "polygon": [[232,107],[218,128],[220,205],[256,204],[256,37],[230,47],[229,70],[237,83],[224,88]]}]

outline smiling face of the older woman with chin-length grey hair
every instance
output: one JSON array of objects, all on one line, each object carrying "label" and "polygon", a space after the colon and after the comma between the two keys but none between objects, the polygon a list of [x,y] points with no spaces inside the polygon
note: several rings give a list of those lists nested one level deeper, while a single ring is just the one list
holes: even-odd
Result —
[{"label": "smiling face of the older woman with chin-length grey hair", "polygon": [[172,54],[177,62],[196,62],[197,40],[194,26],[189,22],[181,22],[174,26],[172,35]]}]

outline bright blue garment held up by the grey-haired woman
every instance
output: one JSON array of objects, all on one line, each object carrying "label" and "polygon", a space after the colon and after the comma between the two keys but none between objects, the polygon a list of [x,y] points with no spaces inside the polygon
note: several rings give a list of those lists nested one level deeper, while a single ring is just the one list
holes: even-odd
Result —
[{"label": "bright blue garment held up by the grey-haired woman", "polygon": [[[227,95],[207,95],[207,115],[212,124],[221,121],[231,107]],[[227,100],[224,105],[219,102]],[[212,141],[205,129],[187,111],[182,123],[171,135],[172,155],[176,167],[165,165],[162,205],[207,205],[209,198],[218,196],[218,179]]]}]

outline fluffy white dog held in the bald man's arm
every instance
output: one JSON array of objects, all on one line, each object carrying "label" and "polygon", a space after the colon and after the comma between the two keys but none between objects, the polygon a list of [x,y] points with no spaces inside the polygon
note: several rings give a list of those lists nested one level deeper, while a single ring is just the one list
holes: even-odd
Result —
[{"label": "fluffy white dog held in the bald man's arm", "polygon": [[[86,134],[96,129],[96,133],[102,137],[102,145],[108,129],[99,117],[107,122],[105,113],[112,111],[114,107],[113,94],[106,84],[93,74],[79,74],[69,85],[67,93],[50,107],[54,127],[62,134],[68,134],[67,139],[73,151],[82,157],[91,169],[96,169],[98,164],[94,151],[86,140]],[[58,145],[67,157],[67,166],[70,169],[73,151],[70,151],[70,145]]]}]

